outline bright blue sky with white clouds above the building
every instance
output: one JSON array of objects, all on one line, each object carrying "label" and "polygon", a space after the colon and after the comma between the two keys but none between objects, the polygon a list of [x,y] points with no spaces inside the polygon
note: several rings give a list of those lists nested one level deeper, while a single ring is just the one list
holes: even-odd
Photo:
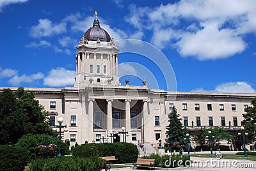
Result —
[{"label": "bright blue sky with white clouds above the building", "polygon": [[[159,48],[172,64],[177,91],[256,93],[255,6],[254,0],[0,0],[0,86],[72,86],[76,46],[97,11],[114,40]],[[119,55],[119,63],[147,65],[143,60]],[[120,72],[140,73],[124,66]]]}]

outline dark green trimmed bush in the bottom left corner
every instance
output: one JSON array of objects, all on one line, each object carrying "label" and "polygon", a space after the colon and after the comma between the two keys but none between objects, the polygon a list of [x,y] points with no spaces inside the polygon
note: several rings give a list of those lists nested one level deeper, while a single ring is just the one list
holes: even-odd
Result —
[{"label": "dark green trimmed bush in the bottom left corner", "polygon": [[29,151],[23,147],[0,145],[0,170],[23,171],[29,161]]}]

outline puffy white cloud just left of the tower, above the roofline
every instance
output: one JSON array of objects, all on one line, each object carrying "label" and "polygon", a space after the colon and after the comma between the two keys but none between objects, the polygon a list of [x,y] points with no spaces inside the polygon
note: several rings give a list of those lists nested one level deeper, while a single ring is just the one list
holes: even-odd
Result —
[{"label": "puffy white cloud just left of the tower, above the roofline", "polygon": [[74,84],[76,71],[66,70],[65,68],[52,69],[49,75],[44,78],[44,85],[51,87],[61,87]]}]

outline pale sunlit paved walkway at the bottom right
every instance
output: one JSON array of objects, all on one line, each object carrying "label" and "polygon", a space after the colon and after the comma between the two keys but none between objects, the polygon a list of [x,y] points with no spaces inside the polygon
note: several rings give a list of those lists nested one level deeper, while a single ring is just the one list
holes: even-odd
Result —
[{"label": "pale sunlit paved walkway at the bottom right", "polygon": [[[175,171],[238,171],[238,170],[256,170],[256,161],[250,160],[230,160],[230,159],[212,159],[212,158],[196,158],[191,157],[192,161],[196,161],[193,167],[177,167],[177,168],[156,168],[156,170],[175,170]],[[128,171],[132,168],[111,168],[111,170]],[[102,170],[103,171],[103,170]],[[135,170],[134,170],[135,171]]]}]

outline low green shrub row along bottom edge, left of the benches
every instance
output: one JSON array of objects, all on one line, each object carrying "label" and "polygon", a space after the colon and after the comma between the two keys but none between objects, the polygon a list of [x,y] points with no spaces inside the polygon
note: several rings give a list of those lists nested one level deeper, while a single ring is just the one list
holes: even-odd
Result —
[{"label": "low green shrub row along bottom edge, left of the benches", "polygon": [[61,160],[51,158],[33,160],[29,165],[31,171],[99,171],[103,160],[97,156],[90,158],[62,157]]}]

